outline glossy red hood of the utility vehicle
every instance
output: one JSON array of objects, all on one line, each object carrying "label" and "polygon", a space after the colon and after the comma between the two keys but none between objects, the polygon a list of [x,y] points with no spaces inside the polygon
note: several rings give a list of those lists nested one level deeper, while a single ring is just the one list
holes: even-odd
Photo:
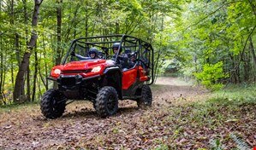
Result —
[{"label": "glossy red hood of the utility vehicle", "polygon": [[86,70],[93,66],[105,64],[106,60],[72,61],[63,65],[63,71]]}]

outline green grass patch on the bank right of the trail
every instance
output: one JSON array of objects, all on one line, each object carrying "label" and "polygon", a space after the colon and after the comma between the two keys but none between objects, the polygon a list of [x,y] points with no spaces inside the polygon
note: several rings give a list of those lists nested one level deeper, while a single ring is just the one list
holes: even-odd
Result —
[{"label": "green grass patch on the bank right of the trail", "polygon": [[[197,101],[188,104],[186,107],[191,110],[191,118],[227,118],[227,113],[241,111],[242,107],[253,107],[256,105],[256,85],[247,87],[230,86],[228,89],[219,90],[211,93],[205,101]],[[233,116],[230,114],[230,116]]]}]

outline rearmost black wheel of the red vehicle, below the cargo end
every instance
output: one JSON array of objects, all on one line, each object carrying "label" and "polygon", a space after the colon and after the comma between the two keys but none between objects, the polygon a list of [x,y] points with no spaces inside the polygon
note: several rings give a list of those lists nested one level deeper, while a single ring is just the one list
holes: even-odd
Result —
[{"label": "rearmost black wheel of the red vehicle, below the cargo end", "polygon": [[141,88],[141,98],[137,100],[138,107],[152,106],[152,90],[148,85],[143,85]]}]

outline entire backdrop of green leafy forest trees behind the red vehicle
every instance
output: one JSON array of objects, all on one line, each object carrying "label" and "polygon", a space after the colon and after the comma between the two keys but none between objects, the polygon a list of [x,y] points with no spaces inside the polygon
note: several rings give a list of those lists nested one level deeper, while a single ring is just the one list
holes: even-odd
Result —
[{"label": "entire backdrop of green leafy forest trees behind the red vehicle", "polygon": [[0,0],[0,104],[39,101],[70,41],[98,35],[152,43],[156,74],[174,60],[209,89],[253,82],[255,28],[253,0]]}]

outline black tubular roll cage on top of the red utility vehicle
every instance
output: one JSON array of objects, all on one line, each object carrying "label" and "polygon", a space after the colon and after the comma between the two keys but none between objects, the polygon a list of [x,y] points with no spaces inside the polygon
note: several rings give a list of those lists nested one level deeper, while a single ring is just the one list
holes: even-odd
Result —
[{"label": "black tubular roll cage on top of the red utility vehicle", "polygon": [[112,51],[113,43],[121,43],[118,48],[118,54],[127,54],[128,57],[136,55],[136,66],[142,66],[150,72],[148,76],[151,80],[146,84],[152,84],[154,80],[152,44],[147,43],[140,38],[134,38],[125,34],[74,39],[71,42],[67,55],[65,55],[63,59],[62,65],[66,64],[68,61],[78,61],[75,60],[71,53],[78,53],[86,56],[89,49],[92,47],[96,47],[99,50],[99,59],[113,60],[116,62],[118,55],[114,55],[114,52]]}]

